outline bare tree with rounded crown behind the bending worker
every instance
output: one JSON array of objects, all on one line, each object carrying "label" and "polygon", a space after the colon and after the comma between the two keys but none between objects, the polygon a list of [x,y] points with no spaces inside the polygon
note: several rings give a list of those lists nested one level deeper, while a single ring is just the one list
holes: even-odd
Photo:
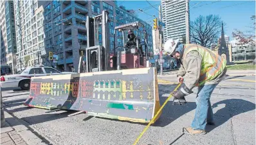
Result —
[{"label": "bare tree with rounded crown behind the bending worker", "polygon": [[221,35],[221,17],[219,15],[200,15],[190,23],[191,42],[204,47],[217,44]]}]

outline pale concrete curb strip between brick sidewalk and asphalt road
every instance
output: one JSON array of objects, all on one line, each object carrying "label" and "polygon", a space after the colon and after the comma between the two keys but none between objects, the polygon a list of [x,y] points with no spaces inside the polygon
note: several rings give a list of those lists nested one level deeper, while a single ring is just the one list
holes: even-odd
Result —
[{"label": "pale concrete curb strip between brick sidewalk and asphalt road", "polygon": [[[47,141],[43,141],[41,139],[41,137],[38,137],[40,135],[35,135],[34,132],[32,132],[31,130],[33,130],[32,128],[29,129],[28,127],[26,127],[23,123],[22,120],[19,121],[21,119],[17,119],[14,117],[14,115],[10,115],[6,109],[5,109],[5,121],[10,124],[10,126],[12,128],[14,128],[14,130],[17,131],[17,133],[24,139],[24,141],[27,144],[31,144],[31,145],[47,145],[50,144],[49,140]],[[47,142],[47,143],[46,143]]]}]

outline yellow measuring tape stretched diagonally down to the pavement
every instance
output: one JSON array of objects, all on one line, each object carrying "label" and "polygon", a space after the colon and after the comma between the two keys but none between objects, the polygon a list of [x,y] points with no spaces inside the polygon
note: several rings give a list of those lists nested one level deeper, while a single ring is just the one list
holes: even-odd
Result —
[{"label": "yellow measuring tape stretched diagonally down to the pavement", "polygon": [[[179,83],[179,85],[172,91],[176,91],[179,86],[181,85],[181,83]],[[163,109],[163,107],[165,107],[165,105],[167,104],[167,102],[169,101],[169,99],[172,97],[172,92],[170,93],[169,97],[165,100],[165,103],[163,103],[163,105],[161,106],[161,108],[158,110],[158,112],[156,113],[156,115],[154,115],[154,117],[151,119],[151,121],[149,122],[149,124],[147,124],[147,126],[144,128],[144,130],[142,131],[142,133],[140,133],[140,135],[138,136],[138,138],[136,139],[136,141],[133,143],[133,145],[136,145],[138,143],[138,141],[140,140],[140,138],[142,138],[142,135],[147,131],[147,129],[149,129],[149,126],[151,126],[152,122],[154,121],[154,119],[156,119],[156,116],[158,116],[158,114],[160,114],[161,110]]]}]

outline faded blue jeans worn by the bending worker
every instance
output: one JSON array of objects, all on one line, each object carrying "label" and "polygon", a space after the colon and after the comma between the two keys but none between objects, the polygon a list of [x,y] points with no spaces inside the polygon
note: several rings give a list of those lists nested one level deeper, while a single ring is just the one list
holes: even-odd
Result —
[{"label": "faded blue jeans worn by the bending worker", "polygon": [[194,128],[194,130],[205,130],[207,122],[214,122],[210,96],[216,86],[217,84],[198,87],[196,97],[196,114],[191,124],[191,127]]}]

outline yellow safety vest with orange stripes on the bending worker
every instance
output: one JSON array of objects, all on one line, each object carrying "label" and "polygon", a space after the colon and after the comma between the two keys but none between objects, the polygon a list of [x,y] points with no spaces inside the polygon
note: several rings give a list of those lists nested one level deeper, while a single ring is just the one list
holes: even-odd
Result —
[{"label": "yellow safety vest with orange stripes on the bending worker", "polygon": [[203,46],[198,46],[196,44],[185,45],[183,59],[186,58],[186,55],[190,51],[198,51],[203,58],[197,86],[203,85],[207,81],[213,80],[214,78],[216,78],[216,76],[221,74],[226,67],[226,59],[223,59],[218,54],[215,54],[214,51]]}]

